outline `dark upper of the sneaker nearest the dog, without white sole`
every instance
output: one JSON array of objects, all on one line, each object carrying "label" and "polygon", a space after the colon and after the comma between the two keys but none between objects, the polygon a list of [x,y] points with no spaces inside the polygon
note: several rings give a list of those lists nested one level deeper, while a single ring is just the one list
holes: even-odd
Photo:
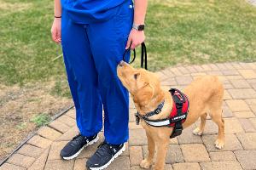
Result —
[{"label": "dark upper of the sneaker nearest the dog, without white sole", "polygon": [[95,154],[86,162],[86,167],[102,167],[123,148],[124,144],[108,144],[106,141],[98,146]]}]

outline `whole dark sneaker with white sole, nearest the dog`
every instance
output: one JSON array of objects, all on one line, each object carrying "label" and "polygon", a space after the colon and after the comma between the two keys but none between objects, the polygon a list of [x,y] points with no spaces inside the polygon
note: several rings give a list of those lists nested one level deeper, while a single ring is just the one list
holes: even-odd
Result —
[{"label": "whole dark sneaker with white sole, nearest the dog", "polygon": [[108,144],[104,141],[86,162],[86,167],[90,170],[102,170],[108,167],[123,151],[125,151],[125,144]]}]

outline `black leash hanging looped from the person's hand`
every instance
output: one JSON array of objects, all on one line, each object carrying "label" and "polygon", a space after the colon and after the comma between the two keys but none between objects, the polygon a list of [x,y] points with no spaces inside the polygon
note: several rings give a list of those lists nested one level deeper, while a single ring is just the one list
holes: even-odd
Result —
[{"label": "black leash hanging looped from the person's hand", "polygon": [[[148,70],[148,55],[147,55],[147,48],[146,48],[145,42],[143,42],[141,46],[142,46],[141,67]],[[125,61],[125,54],[127,54],[127,52],[130,50],[131,50],[131,46],[130,48],[125,49],[125,53],[123,54],[124,61]],[[136,50],[133,49],[133,59],[131,59],[131,62],[128,62],[128,63],[131,64],[135,60],[135,58],[136,58]]]}]

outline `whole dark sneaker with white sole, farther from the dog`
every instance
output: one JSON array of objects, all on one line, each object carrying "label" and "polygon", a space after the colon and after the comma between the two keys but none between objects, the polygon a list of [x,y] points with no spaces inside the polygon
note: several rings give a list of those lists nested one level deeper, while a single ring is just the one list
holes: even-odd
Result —
[{"label": "whole dark sneaker with white sole, farther from the dog", "polygon": [[98,141],[98,135],[84,137],[81,134],[75,136],[65,147],[61,150],[60,156],[64,160],[71,160],[79,156],[80,152],[84,150],[88,145],[96,143]]}]

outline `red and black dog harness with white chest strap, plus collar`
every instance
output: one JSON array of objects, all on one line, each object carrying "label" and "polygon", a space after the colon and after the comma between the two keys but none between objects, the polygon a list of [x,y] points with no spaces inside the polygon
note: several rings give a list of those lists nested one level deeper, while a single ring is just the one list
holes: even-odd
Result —
[{"label": "red and black dog harness with white chest strap, plus collar", "polygon": [[189,99],[188,97],[179,91],[176,88],[171,88],[169,90],[172,95],[173,105],[170,116],[166,119],[150,120],[149,116],[157,115],[161,112],[165,105],[165,101],[161,102],[160,105],[154,111],[148,112],[146,115],[141,115],[139,112],[136,114],[137,125],[140,122],[140,119],[143,119],[148,125],[153,127],[173,127],[172,134],[170,138],[174,138],[180,135],[183,131],[183,122],[186,121],[186,118],[189,113]]}]

